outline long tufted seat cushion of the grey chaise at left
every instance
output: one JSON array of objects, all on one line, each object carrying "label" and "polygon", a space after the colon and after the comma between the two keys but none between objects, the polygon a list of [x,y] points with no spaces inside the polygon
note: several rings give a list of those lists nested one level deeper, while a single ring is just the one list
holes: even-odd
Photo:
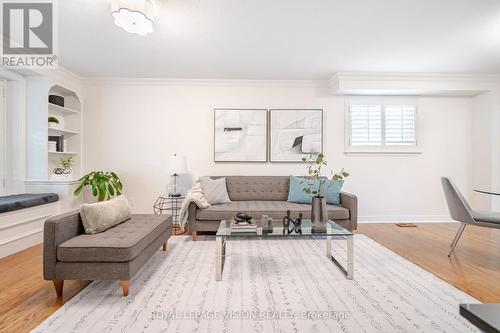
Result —
[{"label": "long tufted seat cushion of the grey chaise at left", "polygon": [[58,246],[57,259],[64,262],[127,262],[171,227],[170,216],[134,214],[104,232],[82,234],[67,240]]}]

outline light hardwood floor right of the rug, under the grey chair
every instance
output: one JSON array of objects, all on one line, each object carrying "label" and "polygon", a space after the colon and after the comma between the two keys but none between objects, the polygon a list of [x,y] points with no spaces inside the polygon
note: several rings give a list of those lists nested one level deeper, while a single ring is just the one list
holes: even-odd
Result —
[{"label": "light hardwood floor right of the rug, under the grey chair", "polygon": [[500,303],[500,230],[467,226],[448,258],[458,223],[361,224],[364,234],[484,303]]}]

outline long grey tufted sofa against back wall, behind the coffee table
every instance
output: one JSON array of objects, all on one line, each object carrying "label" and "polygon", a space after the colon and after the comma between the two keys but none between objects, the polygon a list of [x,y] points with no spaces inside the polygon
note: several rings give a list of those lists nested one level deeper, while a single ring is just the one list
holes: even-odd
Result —
[{"label": "long grey tufted sofa against back wall, behind the coffee table", "polygon": [[[211,177],[213,179],[222,176]],[[198,231],[217,231],[221,220],[231,219],[243,211],[255,218],[268,215],[281,220],[290,210],[293,216],[302,213],[311,217],[311,205],[288,202],[289,176],[226,176],[227,192],[231,203],[212,205],[200,209],[195,203],[189,206],[189,230],[193,240]],[[348,230],[358,225],[358,199],[355,195],[342,192],[340,205],[327,205],[328,217]]]}]

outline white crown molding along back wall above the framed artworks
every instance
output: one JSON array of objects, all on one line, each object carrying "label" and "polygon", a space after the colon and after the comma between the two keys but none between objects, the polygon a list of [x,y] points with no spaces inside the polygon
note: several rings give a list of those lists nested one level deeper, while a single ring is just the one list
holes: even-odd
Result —
[{"label": "white crown molding along back wall above the framed artworks", "polygon": [[84,85],[158,85],[222,87],[314,87],[328,88],[328,80],[237,80],[237,79],[160,79],[160,78],[84,78]]}]

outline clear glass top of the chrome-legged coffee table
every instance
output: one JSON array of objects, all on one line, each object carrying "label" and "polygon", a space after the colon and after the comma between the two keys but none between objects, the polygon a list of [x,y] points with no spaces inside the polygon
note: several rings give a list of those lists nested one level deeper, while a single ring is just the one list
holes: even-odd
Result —
[{"label": "clear glass top of the chrome-legged coffee table", "polygon": [[262,222],[257,221],[257,230],[255,232],[241,232],[231,229],[231,221],[223,220],[219,224],[217,236],[245,236],[245,237],[303,237],[303,236],[352,236],[352,232],[344,229],[334,221],[330,220],[326,224],[326,229],[313,230],[311,220],[302,220],[300,227],[294,227],[291,223],[289,228],[283,227],[282,222],[273,221],[273,228],[267,230],[262,227]]}]

